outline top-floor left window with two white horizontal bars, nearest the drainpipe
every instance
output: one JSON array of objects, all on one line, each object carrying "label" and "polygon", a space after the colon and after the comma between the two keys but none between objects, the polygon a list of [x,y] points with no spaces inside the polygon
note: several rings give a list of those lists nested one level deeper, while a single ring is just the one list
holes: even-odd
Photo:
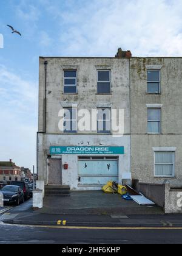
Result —
[{"label": "top-floor left window with two white horizontal bars, nearest the drainpipe", "polygon": [[64,71],[64,93],[76,93],[76,70]]}]

